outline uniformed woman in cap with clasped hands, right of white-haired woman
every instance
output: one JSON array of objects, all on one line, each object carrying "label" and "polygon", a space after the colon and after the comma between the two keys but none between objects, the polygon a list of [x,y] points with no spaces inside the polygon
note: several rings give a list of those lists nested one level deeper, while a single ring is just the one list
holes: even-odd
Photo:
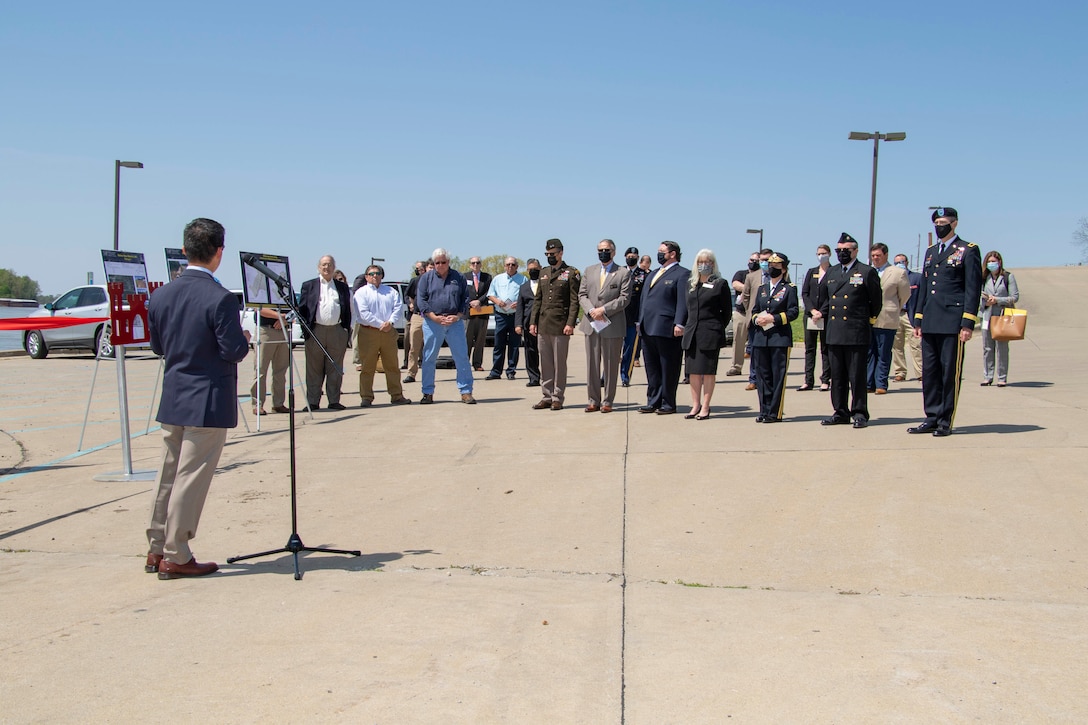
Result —
[{"label": "uniformed woman in cap with clasped hands, right of white-haired woman", "polygon": [[759,285],[752,305],[749,340],[752,342],[752,369],[759,393],[756,422],[779,422],[786,391],[786,369],[793,347],[793,328],[798,319],[798,288],[789,281],[789,258],[779,253],[769,260],[770,281]]}]

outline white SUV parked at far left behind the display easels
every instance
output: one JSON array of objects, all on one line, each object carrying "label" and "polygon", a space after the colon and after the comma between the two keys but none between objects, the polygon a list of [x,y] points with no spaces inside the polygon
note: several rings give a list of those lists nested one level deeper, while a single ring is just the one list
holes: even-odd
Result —
[{"label": "white SUV parked at far left behind the display easels", "polygon": [[[104,284],[88,284],[69,290],[42,309],[27,317],[109,317],[110,295]],[[100,357],[113,357],[110,323],[89,322],[53,330],[27,330],[23,349],[36,360],[55,349],[98,351]]]}]

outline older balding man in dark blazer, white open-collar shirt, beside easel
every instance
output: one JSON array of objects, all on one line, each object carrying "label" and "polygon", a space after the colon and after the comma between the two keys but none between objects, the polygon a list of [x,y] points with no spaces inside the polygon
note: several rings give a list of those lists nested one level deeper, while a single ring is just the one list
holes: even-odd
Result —
[{"label": "older balding man in dark blazer, white open-collar shirt, beside easel", "polygon": [[[321,385],[325,386],[330,410],[344,410],[339,402],[344,381],[344,353],[351,336],[351,291],[347,284],[333,279],[336,260],[325,255],[318,261],[318,277],[302,282],[301,304],[298,311],[306,320],[302,337],[306,340],[306,400],[310,408],[321,407]],[[321,349],[329,351],[325,356]]]}]

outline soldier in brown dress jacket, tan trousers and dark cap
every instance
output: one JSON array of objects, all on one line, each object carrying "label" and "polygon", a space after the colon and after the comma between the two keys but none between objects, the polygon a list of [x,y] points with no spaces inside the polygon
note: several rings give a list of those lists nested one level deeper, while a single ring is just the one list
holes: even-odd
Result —
[{"label": "soldier in brown dress jacket, tan trousers and dark cap", "polygon": [[562,242],[544,245],[548,266],[541,270],[529,319],[529,333],[536,335],[541,356],[541,394],[536,410],[562,410],[567,390],[567,353],[578,320],[578,288],[582,275],[562,261]]}]

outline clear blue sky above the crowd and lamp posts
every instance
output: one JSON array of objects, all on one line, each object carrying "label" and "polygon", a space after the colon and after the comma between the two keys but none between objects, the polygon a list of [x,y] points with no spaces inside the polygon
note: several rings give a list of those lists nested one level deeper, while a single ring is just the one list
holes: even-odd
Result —
[{"label": "clear blue sky above the crowd and lamp posts", "polygon": [[927,207],[1010,267],[1075,261],[1088,10],[1070,2],[23,2],[0,22],[0,267],[60,293],[184,224],[391,279],[437,245],[585,266],[675,239],[732,271],[764,228],[811,265],[912,259]]}]

